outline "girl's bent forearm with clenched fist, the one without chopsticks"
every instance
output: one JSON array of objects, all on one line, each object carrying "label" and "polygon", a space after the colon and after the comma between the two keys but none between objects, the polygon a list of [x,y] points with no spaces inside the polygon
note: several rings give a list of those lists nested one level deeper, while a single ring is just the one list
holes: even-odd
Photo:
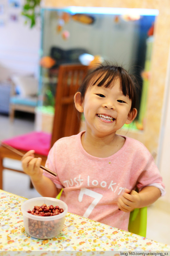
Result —
[{"label": "girl's bent forearm with clenched fist, the one without chopsticks", "polygon": [[138,193],[135,190],[125,189],[122,196],[118,198],[118,207],[124,212],[131,212],[135,208],[142,208],[154,203],[161,195],[160,189],[147,186]]}]

